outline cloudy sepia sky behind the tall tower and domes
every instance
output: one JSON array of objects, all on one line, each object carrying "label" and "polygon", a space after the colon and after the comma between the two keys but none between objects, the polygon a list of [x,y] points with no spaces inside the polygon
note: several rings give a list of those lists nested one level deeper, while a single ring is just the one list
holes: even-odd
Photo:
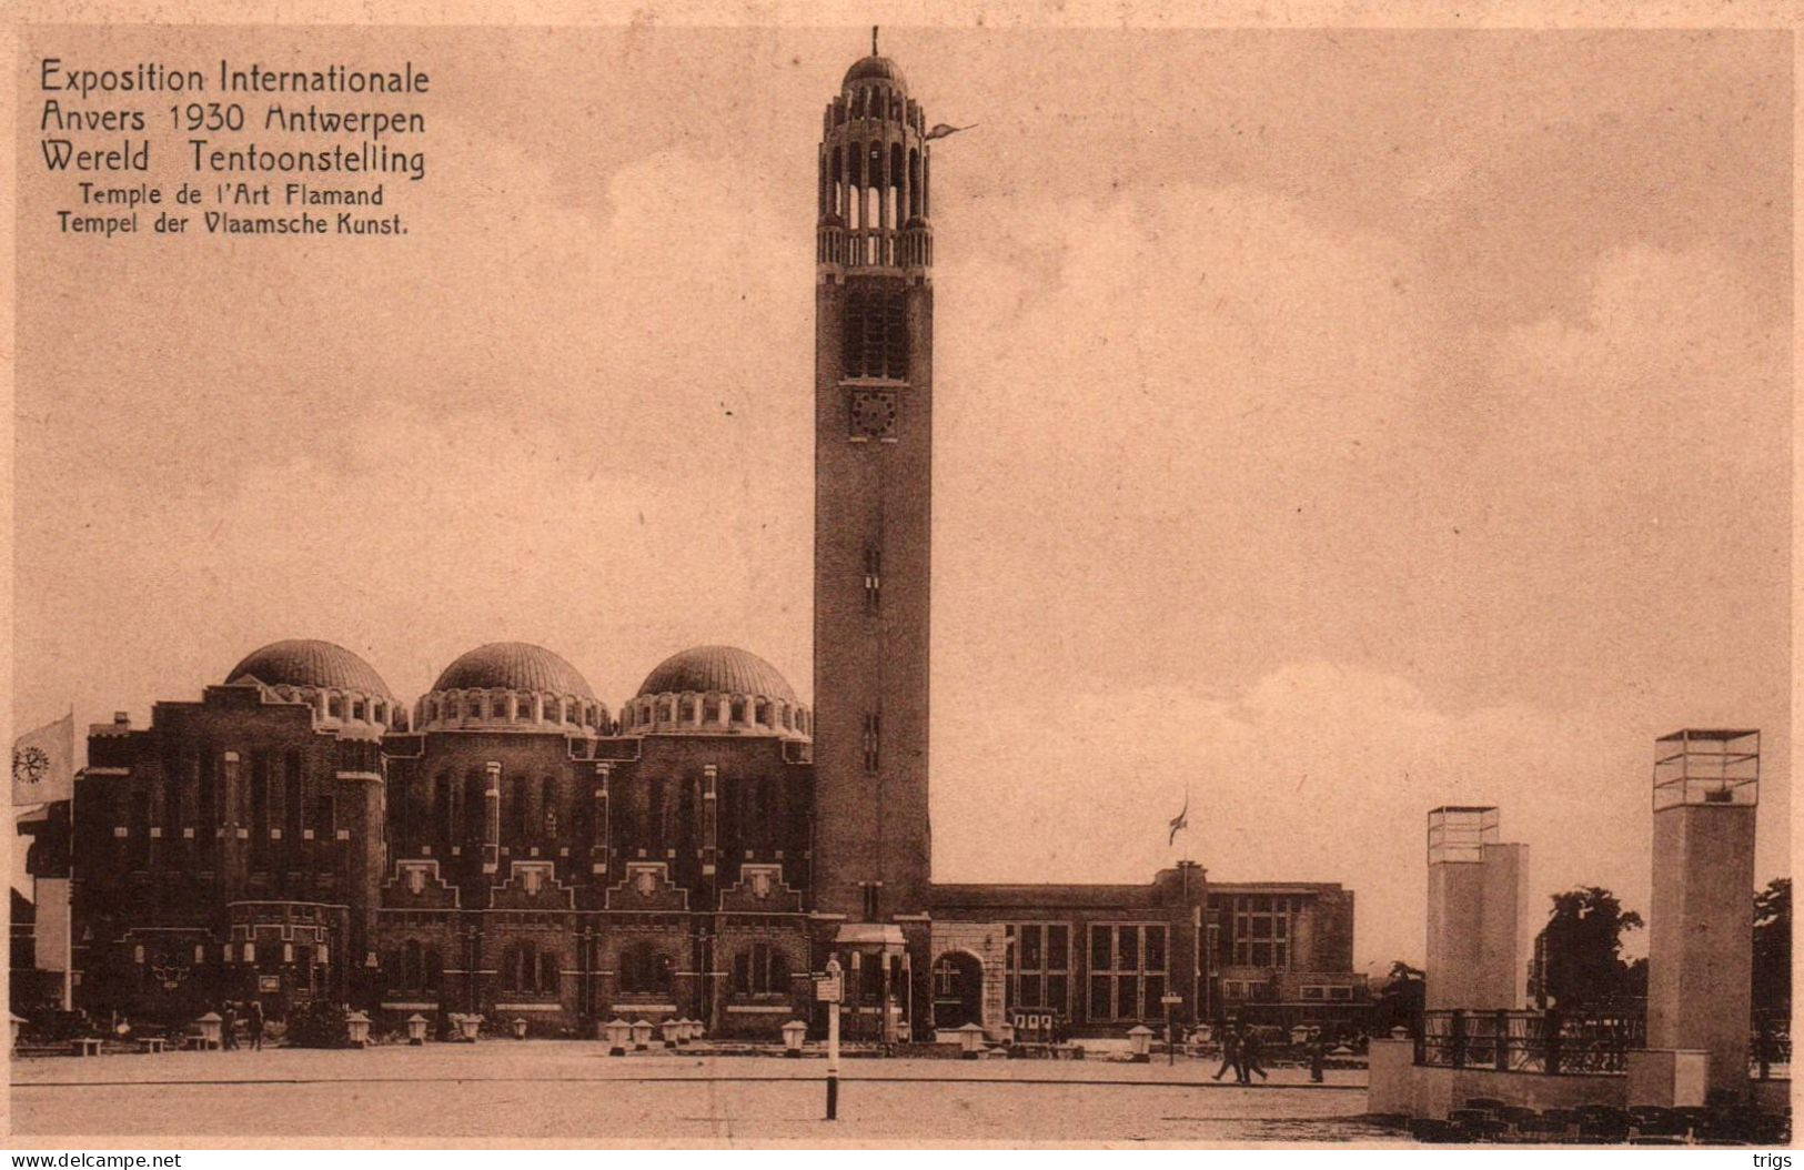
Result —
[{"label": "cloudy sepia sky behind the tall tower and domes", "polygon": [[[408,699],[492,640],[615,710],[704,642],[810,692],[814,164],[868,31],[25,36],[433,90],[404,238],[60,236],[22,164],[18,727],[299,636]],[[933,168],[938,880],[1342,882],[1357,964],[1420,961],[1429,808],[1501,806],[1535,916],[1645,914],[1652,739],[1717,725],[1790,873],[1786,34],[884,52],[976,123]]]}]

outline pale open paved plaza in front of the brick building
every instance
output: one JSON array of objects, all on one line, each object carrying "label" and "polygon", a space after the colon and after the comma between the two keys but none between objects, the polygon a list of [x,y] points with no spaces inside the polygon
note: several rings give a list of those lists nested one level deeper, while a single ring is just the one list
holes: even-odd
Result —
[{"label": "pale open paved plaza in front of the brick building", "polygon": [[267,1139],[496,1138],[714,1145],[1358,1143],[1364,1073],[1301,1069],[1241,1089],[1214,1062],[846,1060],[823,1120],[823,1060],[485,1042],[370,1051],[271,1049],[13,1062],[13,1132]]}]

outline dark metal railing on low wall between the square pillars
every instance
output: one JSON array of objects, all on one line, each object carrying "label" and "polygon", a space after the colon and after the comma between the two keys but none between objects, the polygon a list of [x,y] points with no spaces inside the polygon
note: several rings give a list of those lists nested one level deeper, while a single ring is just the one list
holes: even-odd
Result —
[{"label": "dark metal railing on low wall between the square pillars", "polygon": [[1499,1073],[1624,1073],[1647,1047],[1640,1013],[1465,1011],[1422,1013],[1416,1064]]}]

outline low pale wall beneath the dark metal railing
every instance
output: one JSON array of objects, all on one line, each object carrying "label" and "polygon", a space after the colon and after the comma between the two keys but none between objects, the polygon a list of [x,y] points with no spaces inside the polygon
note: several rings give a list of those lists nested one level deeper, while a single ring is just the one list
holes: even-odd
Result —
[{"label": "low pale wall beneath the dark metal railing", "polygon": [[1416,1064],[1413,1040],[1373,1040],[1367,1109],[1409,1118],[1445,1118],[1474,1096],[1526,1109],[1629,1105],[1629,1078],[1597,1073],[1499,1073],[1497,1069],[1443,1069]]}]

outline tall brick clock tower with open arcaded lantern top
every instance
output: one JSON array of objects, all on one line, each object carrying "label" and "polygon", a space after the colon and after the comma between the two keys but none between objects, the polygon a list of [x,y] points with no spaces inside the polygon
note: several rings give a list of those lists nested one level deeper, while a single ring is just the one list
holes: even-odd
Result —
[{"label": "tall brick clock tower with open arcaded lantern top", "polygon": [[895,61],[846,70],[815,245],[815,903],[927,905],[933,231],[925,115]]}]

